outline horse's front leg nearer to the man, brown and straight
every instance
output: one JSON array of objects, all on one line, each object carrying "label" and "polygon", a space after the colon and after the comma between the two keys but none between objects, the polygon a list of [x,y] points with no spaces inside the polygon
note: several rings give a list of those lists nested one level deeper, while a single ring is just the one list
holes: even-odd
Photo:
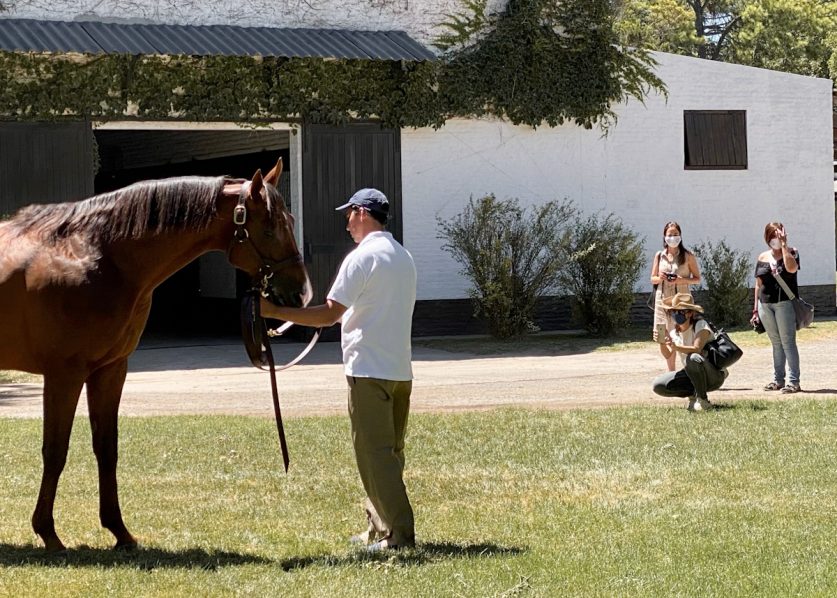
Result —
[{"label": "horse's front leg nearer to the man, brown and straight", "polygon": [[99,464],[99,519],[116,536],[117,548],[137,545],[122,521],[116,484],[119,400],[128,372],[122,359],[93,372],[87,378],[87,407],[93,431],[93,452]]}]

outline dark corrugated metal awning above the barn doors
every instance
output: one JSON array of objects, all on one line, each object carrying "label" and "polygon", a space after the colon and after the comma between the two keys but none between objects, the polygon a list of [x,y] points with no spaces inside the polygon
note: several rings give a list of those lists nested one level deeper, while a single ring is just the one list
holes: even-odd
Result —
[{"label": "dark corrugated metal awning above the barn doors", "polygon": [[282,29],[0,19],[0,50],[83,54],[184,54],[435,60],[403,31]]}]

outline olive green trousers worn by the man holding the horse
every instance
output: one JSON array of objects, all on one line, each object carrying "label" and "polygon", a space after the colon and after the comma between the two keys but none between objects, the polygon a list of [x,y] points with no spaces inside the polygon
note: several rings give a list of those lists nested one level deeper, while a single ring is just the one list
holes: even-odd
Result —
[{"label": "olive green trousers worn by the man holding the horse", "polygon": [[383,527],[378,531],[399,546],[413,546],[413,508],[402,476],[413,383],[354,376],[346,380],[357,468]]}]

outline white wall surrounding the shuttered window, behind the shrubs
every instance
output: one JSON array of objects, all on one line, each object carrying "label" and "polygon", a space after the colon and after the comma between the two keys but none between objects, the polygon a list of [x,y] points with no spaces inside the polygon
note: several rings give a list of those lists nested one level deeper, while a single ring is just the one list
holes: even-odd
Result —
[{"label": "white wall surrounding the shuttered window, behind the shrubs", "polygon": [[[646,237],[650,262],[676,220],[688,246],[726,241],[755,256],[764,225],[785,223],[801,254],[800,284],[834,284],[831,82],[656,54],[668,102],[617,109],[608,137],[565,125],[532,130],[456,120],[402,132],[404,242],[416,260],[419,299],[466,296],[460,267],[440,249],[436,216],[470,196],[524,204],[569,198],[586,213],[614,212]],[[746,110],[747,170],[685,170],[684,110]],[[649,289],[647,275],[642,288]]]}]

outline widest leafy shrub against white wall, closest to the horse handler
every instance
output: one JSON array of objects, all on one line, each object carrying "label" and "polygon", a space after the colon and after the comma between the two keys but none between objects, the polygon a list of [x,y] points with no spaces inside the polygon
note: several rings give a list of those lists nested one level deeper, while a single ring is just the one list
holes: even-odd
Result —
[{"label": "widest leafy shrub against white wall, closest to the horse handler", "polygon": [[474,314],[498,338],[537,330],[538,297],[555,289],[565,262],[566,226],[575,210],[568,201],[529,209],[494,195],[469,200],[449,221],[437,218],[442,249],[462,264],[473,285]]}]

